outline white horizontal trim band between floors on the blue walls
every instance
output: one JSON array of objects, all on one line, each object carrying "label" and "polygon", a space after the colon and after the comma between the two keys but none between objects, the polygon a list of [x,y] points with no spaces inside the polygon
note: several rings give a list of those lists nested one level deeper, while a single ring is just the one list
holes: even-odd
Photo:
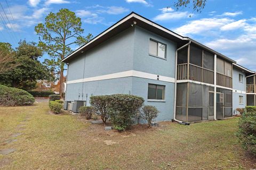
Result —
[{"label": "white horizontal trim band between floors on the blue walls", "polygon": [[99,81],[99,80],[108,80],[108,79],[117,79],[117,78],[126,78],[126,77],[138,77],[138,78],[145,78],[145,79],[151,79],[151,80],[160,80],[160,81],[166,81],[166,82],[174,83],[174,78],[171,78],[171,77],[165,77],[165,76],[157,75],[157,74],[151,74],[151,73],[145,73],[145,72],[141,72],[141,71],[129,70],[129,71],[118,72],[118,73],[113,73],[113,74],[100,75],[100,76],[91,77],[91,78],[70,80],[70,81],[67,82],[67,84],[90,82],[90,81]]}]

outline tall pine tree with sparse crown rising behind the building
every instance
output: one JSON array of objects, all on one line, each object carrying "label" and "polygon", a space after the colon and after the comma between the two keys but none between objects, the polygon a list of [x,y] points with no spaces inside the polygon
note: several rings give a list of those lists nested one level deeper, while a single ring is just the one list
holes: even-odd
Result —
[{"label": "tall pine tree with sparse crown rising behind the building", "polygon": [[62,95],[64,63],[61,60],[73,52],[71,45],[83,45],[92,38],[89,33],[86,37],[82,36],[81,18],[68,9],[61,9],[57,13],[50,13],[46,16],[44,23],[39,23],[35,27],[39,35],[39,46],[49,54],[51,60],[45,63],[51,66],[60,78],[60,95]]}]

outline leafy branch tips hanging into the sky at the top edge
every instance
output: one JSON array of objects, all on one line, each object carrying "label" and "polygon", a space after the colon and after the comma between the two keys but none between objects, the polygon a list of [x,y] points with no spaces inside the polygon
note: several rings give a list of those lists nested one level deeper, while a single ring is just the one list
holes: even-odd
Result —
[{"label": "leafy branch tips hanging into the sky at the top edge", "polygon": [[177,0],[174,3],[174,7],[179,10],[181,7],[190,7],[193,5],[193,10],[197,12],[202,12],[205,6],[206,0]]}]

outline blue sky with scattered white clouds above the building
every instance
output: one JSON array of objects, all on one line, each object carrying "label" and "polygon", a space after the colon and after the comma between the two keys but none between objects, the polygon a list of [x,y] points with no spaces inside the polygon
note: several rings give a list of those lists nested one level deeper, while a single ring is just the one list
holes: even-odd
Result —
[{"label": "blue sky with scattered white clouds above the building", "polygon": [[256,71],[256,1],[207,0],[202,13],[191,8],[176,11],[175,1],[2,0],[4,11],[0,6],[0,13],[5,20],[0,20],[0,41],[13,47],[17,47],[19,39],[38,42],[35,25],[43,22],[50,11],[58,12],[60,8],[74,11],[82,19],[85,35],[92,33],[94,37],[134,11]]}]

